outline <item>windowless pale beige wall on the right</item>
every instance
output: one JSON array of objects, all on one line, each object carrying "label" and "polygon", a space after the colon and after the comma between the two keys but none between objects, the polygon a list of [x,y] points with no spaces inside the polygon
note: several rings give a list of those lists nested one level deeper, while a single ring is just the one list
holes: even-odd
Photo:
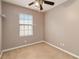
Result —
[{"label": "windowless pale beige wall on the right", "polygon": [[45,20],[46,41],[79,55],[79,0],[49,10]]}]

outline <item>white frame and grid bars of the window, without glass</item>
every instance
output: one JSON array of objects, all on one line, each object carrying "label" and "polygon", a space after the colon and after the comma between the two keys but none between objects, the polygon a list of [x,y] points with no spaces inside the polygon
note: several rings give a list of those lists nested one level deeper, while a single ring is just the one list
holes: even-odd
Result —
[{"label": "white frame and grid bars of the window, without glass", "polygon": [[[20,20],[21,20],[21,18],[20,18],[20,15],[28,15],[28,16],[31,16],[32,17],[32,19],[30,19],[30,20],[32,20],[32,24],[20,24]],[[23,17],[25,17],[25,16],[23,16]],[[23,19],[23,22],[24,22],[24,20],[25,19]],[[28,20],[28,19],[26,19],[26,20]],[[27,32],[28,32],[28,34],[26,35],[25,34],[25,32],[26,32],[26,30],[25,30],[25,28],[24,28],[24,30],[21,30],[20,29],[20,26],[23,26],[23,27],[25,27],[25,26],[27,26],[28,27],[28,29],[27,29]],[[29,26],[31,26],[32,27],[32,29],[29,29]],[[31,30],[31,32],[32,32],[32,34],[29,34],[29,31]],[[21,31],[24,31],[24,35],[21,35],[20,33],[21,33]],[[30,14],[24,14],[24,13],[20,13],[19,14],[19,36],[20,37],[28,37],[28,36],[33,36],[33,15],[30,15]]]}]

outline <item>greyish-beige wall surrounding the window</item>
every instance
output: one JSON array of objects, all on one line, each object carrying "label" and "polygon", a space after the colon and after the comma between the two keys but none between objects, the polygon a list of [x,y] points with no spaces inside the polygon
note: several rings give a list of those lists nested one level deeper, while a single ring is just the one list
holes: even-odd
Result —
[{"label": "greyish-beige wall surrounding the window", "polygon": [[[2,3],[3,14],[6,18],[3,19],[3,49],[13,48],[25,45],[32,42],[43,40],[44,14],[12,5]],[[31,37],[19,37],[19,14],[26,13],[33,15],[34,20],[34,35]]]}]

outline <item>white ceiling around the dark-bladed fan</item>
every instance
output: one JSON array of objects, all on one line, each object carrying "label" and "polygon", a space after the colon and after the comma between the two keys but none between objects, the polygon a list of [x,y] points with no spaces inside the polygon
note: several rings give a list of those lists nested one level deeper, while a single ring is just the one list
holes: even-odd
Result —
[{"label": "white ceiling around the dark-bladed fan", "polygon": [[[40,9],[38,7],[35,7],[35,5],[28,6],[28,4],[30,2],[33,2],[35,0],[3,0],[3,1],[8,2],[8,3],[12,3],[12,4],[16,4],[16,5],[19,5],[19,6],[22,6],[22,7],[27,7],[27,8],[30,8],[30,9],[40,11]],[[47,1],[55,2],[55,5],[50,6],[50,5],[44,4],[43,5],[44,10],[42,10],[41,12],[48,11],[49,9],[52,9],[53,7],[55,7],[55,6],[57,6],[61,3],[64,3],[67,0],[47,0]]]}]

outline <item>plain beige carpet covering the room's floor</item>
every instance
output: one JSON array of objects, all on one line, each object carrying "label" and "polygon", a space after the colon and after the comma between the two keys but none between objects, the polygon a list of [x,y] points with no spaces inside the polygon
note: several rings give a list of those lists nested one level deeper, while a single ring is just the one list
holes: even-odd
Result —
[{"label": "plain beige carpet covering the room's floor", "polygon": [[76,59],[45,43],[8,51],[2,59]]}]

